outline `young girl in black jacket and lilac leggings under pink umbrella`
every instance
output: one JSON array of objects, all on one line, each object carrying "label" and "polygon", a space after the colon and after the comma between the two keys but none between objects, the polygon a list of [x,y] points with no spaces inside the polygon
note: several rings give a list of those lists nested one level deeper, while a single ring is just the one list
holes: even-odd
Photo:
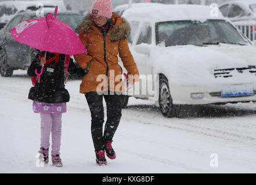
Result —
[{"label": "young girl in black jacket and lilac leggings under pink umbrella", "polygon": [[[49,137],[52,132],[52,164],[57,167],[63,166],[60,158],[62,113],[66,112],[66,102],[70,98],[64,85],[66,74],[64,65],[69,72],[76,68],[69,56],[42,51],[37,54],[27,71],[29,76],[37,76],[28,99],[33,100],[33,110],[41,116],[41,148],[38,152],[44,156],[43,160],[47,164]],[[41,75],[37,75],[38,73]]]}]

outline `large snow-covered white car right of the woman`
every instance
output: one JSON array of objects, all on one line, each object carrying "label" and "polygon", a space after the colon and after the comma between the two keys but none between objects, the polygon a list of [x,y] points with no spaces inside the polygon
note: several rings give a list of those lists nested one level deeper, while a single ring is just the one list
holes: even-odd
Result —
[{"label": "large snow-covered white car right of the woman", "polygon": [[211,11],[202,5],[125,10],[140,73],[129,96],[156,101],[166,117],[177,116],[180,105],[256,101],[256,47]]}]

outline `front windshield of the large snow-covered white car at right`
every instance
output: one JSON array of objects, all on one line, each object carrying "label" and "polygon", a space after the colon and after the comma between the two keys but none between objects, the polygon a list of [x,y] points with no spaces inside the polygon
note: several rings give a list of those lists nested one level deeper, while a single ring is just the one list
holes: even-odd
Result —
[{"label": "front windshield of the large snow-covered white car at right", "polygon": [[171,21],[156,24],[157,44],[176,45],[214,45],[229,43],[246,45],[247,41],[225,20]]}]

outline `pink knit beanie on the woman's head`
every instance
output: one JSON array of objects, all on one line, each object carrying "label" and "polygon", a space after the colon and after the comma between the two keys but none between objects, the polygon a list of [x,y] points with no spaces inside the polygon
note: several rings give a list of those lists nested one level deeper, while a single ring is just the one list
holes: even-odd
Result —
[{"label": "pink knit beanie on the woman's head", "polygon": [[112,2],[111,2],[111,0],[96,0],[96,1],[94,1],[92,4],[90,14],[111,18],[112,17]]}]

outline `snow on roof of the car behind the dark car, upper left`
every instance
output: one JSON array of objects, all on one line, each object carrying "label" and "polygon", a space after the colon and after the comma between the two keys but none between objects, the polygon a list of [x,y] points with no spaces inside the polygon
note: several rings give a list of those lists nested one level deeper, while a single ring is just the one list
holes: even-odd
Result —
[{"label": "snow on roof of the car behind the dark car, upper left", "polygon": [[57,5],[60,10],[66,10],[63,1],[3,1],[1,5],[15,6],[17,10],[26,10],[30,6],[35,6],[37,3],[42,3],[44,6],[55,6]]}]

